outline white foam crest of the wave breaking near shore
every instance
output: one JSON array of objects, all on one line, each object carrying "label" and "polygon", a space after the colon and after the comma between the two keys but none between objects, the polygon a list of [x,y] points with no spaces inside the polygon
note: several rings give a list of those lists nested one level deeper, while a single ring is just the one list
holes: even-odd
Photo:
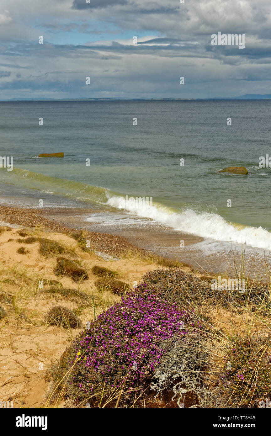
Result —
[{"label": "white foam crest of the wave breaking near shore", "polygon": [[[107,204],[115,208],[123,208],[123,197],[109,198]],[[143,206],[141,208],[126,205],[126,210],[142,218],[152,218],[174,230],[191,233],[202,238],[217,241],[237,242],[253,247],[271,250],[271,233],[262,227],[244,227],[228,223],[216,213],[197,212],[186,209],[180,213],[166,208],[162,204]]]}]

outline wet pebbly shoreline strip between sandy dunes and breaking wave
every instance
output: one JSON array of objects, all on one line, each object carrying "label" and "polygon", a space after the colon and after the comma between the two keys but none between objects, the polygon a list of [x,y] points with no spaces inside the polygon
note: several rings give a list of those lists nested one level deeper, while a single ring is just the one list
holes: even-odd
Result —
[{"label": "wet pebbly shoreline strip between sandy dunes and breaking wave", "polygon": [[[84,232],[84,238],[90,241],[92,250],[105,260],[119,258],[129,252],[130,255],[166,259],[166,262],[178,262],[188,266],[201,275],[232,275],[230,265],[236,263],[240,268],[243,251],[247,256],[247,275],[259,273],[266,275],[266,264],[271,264],[268,253],[250,247],[236,247],[234,243],[208,240],[188,233],[176,232],[165,226],[120,226],[104,225],[97,221],[88,222],[93,209],[77,208],[24,208],[20,206],[1,205],[0,221],[22,227],[41,226],[53,232],[71,235]],[[93,228],[93,230],[91,230]],[[105,232],[102,230],[105,229]],[[185,247],[180,248],[180,240],[185,240]],[[164,265],[165,263],[164,262]],[[229,265],[230,264],[230,265]]]}]

